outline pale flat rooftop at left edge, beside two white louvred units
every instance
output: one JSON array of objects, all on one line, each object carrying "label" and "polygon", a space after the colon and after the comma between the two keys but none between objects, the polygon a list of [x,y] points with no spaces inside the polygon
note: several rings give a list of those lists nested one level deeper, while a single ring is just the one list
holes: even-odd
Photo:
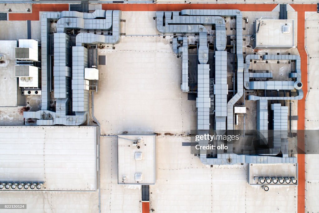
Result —
[{"label": "pale flat rooftop at left edge, beside two white louvred units", "polygon": [[14,48],[17,41],[0,41],[0,56],[4,63],[0,63],[0,107],[17,106],[17,78],[14,75]]}]

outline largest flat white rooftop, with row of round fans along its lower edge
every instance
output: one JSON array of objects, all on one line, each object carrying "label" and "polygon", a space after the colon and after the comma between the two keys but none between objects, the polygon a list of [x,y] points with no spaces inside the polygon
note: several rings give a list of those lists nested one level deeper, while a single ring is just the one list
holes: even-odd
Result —
[{"label": "largest flat white rooftop, with row of round fans along its lower edge", "polygon": [[96,190],[95,126],[0,126],[0,181]]}]

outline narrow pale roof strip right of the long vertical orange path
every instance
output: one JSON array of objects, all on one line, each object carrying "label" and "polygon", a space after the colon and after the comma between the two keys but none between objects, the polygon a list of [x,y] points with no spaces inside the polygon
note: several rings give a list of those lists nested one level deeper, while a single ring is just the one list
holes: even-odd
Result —
[{"label": "narrow pale roof strip right of the long vertical orange path", "polygon": [[[305,46],[308,53],[308,95],[306,99],[305,128],[306,130],[319,129],[319,14],[305,12],[306,39]],[[316,151],[316,150],[311,150]],[[318,150],[317,150],[318,151]],[[317,212],[319,209],[319,155],[306,155],[306,212]]]}]

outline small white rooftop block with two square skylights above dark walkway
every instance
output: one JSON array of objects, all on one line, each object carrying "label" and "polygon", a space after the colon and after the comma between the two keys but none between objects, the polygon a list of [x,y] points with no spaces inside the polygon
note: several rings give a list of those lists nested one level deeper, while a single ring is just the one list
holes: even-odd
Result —
[{"label": "small white rooftop block with two square skylights above dark walkway", "polygon": [[118,135],[117,140],[118,184],[155,184],[156,135]]}]

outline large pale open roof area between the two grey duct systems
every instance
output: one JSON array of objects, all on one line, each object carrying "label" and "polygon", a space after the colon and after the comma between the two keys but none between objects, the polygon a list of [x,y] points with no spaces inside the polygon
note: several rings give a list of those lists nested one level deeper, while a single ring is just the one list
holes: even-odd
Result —
[{"label": "large pale open roof area between the two grey duct systems", "polygon": [[[136,13],[144,18],[133,19],[135,25],[126,22],[126,26],[136,26],[130,34],[142,32],[137,27],[140,19],[155,16],[155,12]],[[122,19],[130,14],[122,12]],[[144,27],[146,32],[157,34],[155,25]],[[169,42],[158,36],[121,36],[115,50],[99,50],[98,55],[105,55],[107,61],[98,66],[99,91],[94,95],[94,114],[102,134],[196,129],[195,112],[187,93],[180,89],[181,59],[176,58]]]}]

